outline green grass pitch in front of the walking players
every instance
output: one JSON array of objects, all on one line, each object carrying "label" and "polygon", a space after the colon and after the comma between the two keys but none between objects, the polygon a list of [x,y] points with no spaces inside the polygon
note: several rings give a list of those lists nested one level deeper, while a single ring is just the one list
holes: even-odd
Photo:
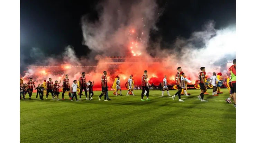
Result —
[{"label": "green grass pitch in front of the walking players", "polygon": [[[170,90],[174,95],[177,90]],[[236,141],[236,108],[227,103],[228,90],[212,97],[209,102],[198,100],[200,90],[188,90],[190,97],[182,96],[179,102],[162,95],[160,90],[150,90],[149,99],[140,101],[141,90],[136,96],[112,94],[106,102],[98,100],[100,91],[95,91],[93,100],[53,101],[32,99],[20,101],[20,142],[113,142],[113,143],[234,143]],[[62,94],[62,93],[61,93]],[[60,94],[60,97],[61,97]],[[84,92],[83,92],[84,94]],[[166,96],[166,91],[164,92]],[[46,96],[44,96],[44,99]],[[144,97],[146,99],[146,97]]]}]

